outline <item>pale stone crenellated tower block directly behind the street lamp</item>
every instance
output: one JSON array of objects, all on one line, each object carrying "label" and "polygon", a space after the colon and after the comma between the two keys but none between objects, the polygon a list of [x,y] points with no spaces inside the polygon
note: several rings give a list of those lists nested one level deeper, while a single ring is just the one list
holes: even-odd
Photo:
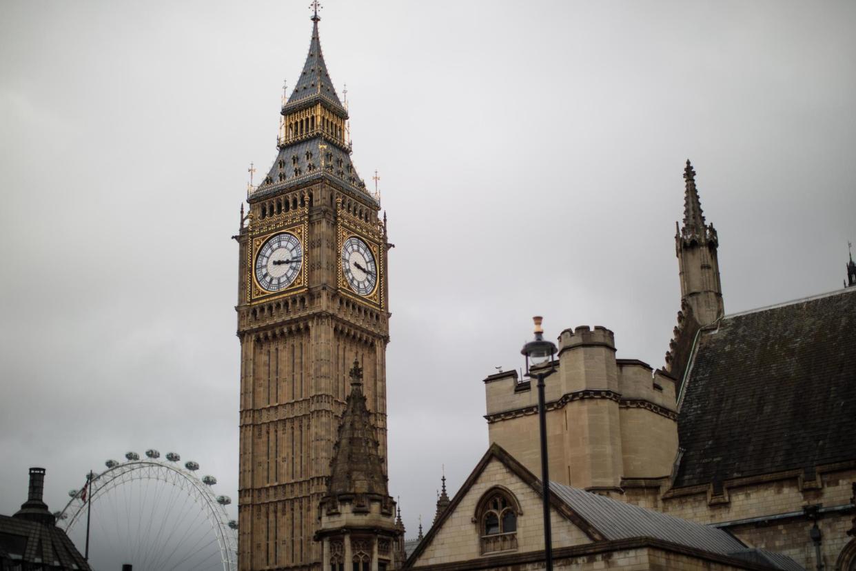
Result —
[{"label": "pale stone crenellated tower block directly behind the street lamp", "polygon": [[[625,479],[668,476],[677,450],[675,382],[640,360],[615,358],[603,326],[563,330],[557,371],[546,379],[550,477],[613,493]],[[517,372],[484,379],[488,431],[538,469],[538,396]]]}]

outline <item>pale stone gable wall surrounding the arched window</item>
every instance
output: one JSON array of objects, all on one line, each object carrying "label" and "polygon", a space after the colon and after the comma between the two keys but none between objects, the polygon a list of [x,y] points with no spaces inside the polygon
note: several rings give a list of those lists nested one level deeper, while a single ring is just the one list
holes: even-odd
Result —
[{"label": "pale stone gable wall surrounding the arched window", "polygon": [[[544,512],[541,497],[501,461],[493,458],[484,467],[473,486],[466,491],[454,513],[449,514],[443,521],[443,526],[434,535],[431,544],[426,545],[419,558],[413,562],[413,567],[466,561],[482,556],[479,551],[479,524],[473,522],[473,518],[481,497],[497,485],[514,494],[523,512],[517,520],[517,550],[503,551],[502,555],[544,550]],[[591,543],[591,539],[580,531],[579,527],[574,526],[555,509],[552,510],[550,522],[554,548]]]}]

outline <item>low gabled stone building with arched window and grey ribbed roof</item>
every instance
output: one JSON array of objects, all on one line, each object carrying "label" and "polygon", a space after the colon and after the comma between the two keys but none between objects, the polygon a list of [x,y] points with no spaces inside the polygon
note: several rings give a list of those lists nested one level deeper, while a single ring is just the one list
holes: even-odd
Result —
[{"label": "low gabled stone building with arched window and grey ribbed roof", "polygon": [[[550,486],[554,568],[797,569],[786,557],[746,549],[728,533],[591,492]],[[489,529],[485,498],[508,499],[508,529]],[[449,507],[408,557],[425,571],[543,569],[540,482],[492,444]]]}]

